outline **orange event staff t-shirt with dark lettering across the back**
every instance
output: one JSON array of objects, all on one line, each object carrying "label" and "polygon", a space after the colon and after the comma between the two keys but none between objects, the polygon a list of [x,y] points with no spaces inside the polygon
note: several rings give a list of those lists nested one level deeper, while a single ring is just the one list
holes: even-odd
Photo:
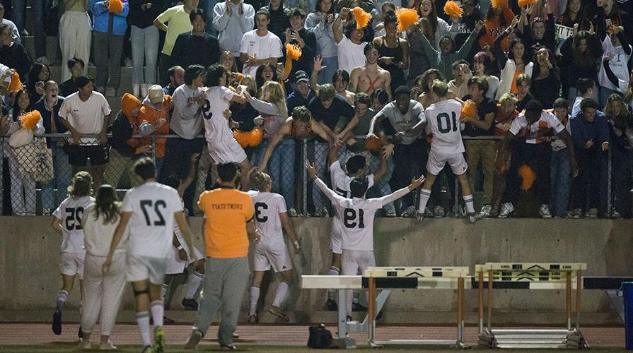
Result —
[{"label": "orange event staff t-shirt with dark lettering across the back", "polygon": [[248,255],[246,222],[255,214],[248,193],[228,188],[204,191],[198,207],[207,217],[204,226],[207,256],[243,258]]}]

